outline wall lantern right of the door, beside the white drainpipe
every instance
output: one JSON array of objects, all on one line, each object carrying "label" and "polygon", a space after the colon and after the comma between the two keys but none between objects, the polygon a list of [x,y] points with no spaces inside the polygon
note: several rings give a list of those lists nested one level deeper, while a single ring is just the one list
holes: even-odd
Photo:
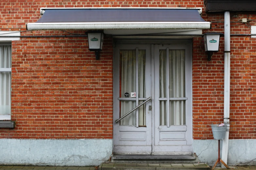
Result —
[{"label": "wall lantern right of the door, beside the white drainpipe", "polygon": [[220,36],[224,35],[223,33],[205,33],[204,34],[204,47],[205,52],[208,53],[208,61],[211,61],[213,52],[219,51]]}]

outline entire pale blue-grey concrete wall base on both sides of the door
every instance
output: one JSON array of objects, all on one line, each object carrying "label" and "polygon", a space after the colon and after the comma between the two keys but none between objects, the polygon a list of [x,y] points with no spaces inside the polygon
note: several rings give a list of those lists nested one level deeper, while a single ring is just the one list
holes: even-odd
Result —
[{"label": "entire pale blue-grey concrete wall base on both sides of the door", "polygon": [[[0,164],[99,165],[111,156],[112,142],[112,139],[0,139]],[[255,146],[255,139],[229,140],[228,165],[255,165]],[[218,141],[193,140],[193,152],[201,163],[213,165],[218,158]]]}]

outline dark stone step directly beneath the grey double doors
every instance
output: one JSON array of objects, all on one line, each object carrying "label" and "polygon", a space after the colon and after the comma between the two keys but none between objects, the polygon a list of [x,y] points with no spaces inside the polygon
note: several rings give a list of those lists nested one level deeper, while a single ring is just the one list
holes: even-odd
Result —
[{"label": "dark stone step directly beneath the grey double doors", "polygon": [[198,163],[193,155],[113,155],[111,163]]}]

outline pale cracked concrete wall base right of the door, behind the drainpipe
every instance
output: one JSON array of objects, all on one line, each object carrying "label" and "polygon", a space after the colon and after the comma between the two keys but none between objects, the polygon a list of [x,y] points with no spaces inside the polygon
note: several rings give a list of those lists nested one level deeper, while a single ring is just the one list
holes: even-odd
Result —
[{"label": "pale cracked concrete wall base right of the door, behind the drainpipe", "polygon": [[[220,141],[220,149],[222,149],[222,140]],[[193,152],[196,153],[201,163],[213,165],[218,159],[218,140],[193,140]],[[255,164],[256,139],[229,140],[228,165]]]}]

